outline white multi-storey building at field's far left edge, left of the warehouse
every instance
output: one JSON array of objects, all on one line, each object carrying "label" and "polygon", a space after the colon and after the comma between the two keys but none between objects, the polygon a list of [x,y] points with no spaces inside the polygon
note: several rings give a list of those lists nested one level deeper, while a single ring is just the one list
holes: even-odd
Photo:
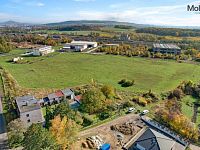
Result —
[{"label": "white multi-storey building at field's far left edge, left of the warehouse", "polygon": [[52,48],[52,46],[43,46],[32,50],[33,56],[44,56],[53,52],[54,49]]}]

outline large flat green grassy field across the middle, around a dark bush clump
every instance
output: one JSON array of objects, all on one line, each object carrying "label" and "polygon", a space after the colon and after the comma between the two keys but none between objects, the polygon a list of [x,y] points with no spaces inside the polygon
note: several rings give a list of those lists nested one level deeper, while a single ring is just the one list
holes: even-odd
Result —
[{"label": "large flat green grassy field across the middle, around a dark bush clump", "polygon": [[[161,93],[174,89],[183,80],[199,81],[200,66],[194,64],[111,55],[54,54],[57,55],[25,57],[31,64],[13,64],[8,62],[13,56],[4,56],[0,57],[0,65],[14,76],[19,85],[28,88],[64,88],[87,84],[95,79],[117,89],[136,92],[152,89]],[[136,85],[120,87],[117,82],[123,78],[134,79]]]}]

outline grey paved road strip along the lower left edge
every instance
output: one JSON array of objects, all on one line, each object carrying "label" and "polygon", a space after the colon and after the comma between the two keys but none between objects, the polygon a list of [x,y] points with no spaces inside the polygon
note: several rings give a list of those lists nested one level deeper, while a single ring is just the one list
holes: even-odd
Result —
[{"label": "grey paved road strip along the lower left edge", "polygon": [[3,116],[3,107],[1,102],[1,96],[0,96],[0,150],[7,150],[7,133],[6,133],[6,124],[5,119]]}]

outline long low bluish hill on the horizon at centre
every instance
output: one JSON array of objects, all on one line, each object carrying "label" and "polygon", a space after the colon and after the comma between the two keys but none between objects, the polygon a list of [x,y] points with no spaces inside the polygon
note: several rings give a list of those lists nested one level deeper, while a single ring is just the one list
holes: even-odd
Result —
[{"label": "long low bluish hill on the horizon at centre", "polygon": [[45,24],[46,26],[71,26],[71,25],[104,25],[104,26],[113,26],[113,25],[127,25],[133,26],[137,28],[148,27],[149,25],[143,24],[135,24],[135,23],[128,23],[128,22],[117,22],[117,21],[101,21],[101,20],[79,20],[79,21],[64,21],[64,22],[57,22],[57,23],[48,23]]}]

